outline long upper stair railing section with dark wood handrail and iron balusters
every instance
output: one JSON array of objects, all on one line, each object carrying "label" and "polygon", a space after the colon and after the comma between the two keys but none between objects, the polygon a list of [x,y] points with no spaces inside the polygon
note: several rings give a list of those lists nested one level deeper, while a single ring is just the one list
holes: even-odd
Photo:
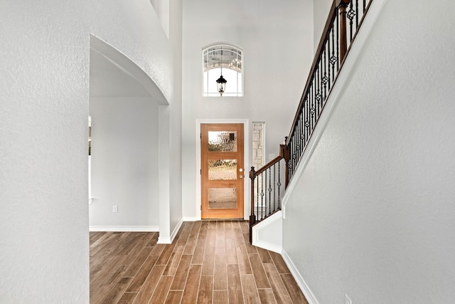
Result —
[{"label": "long upper stair railing section with dark wood handrail and iron balusters", "polygon": [[346,54],[373,0],[334,0],[286,145],[287,179],[304,154]]}]

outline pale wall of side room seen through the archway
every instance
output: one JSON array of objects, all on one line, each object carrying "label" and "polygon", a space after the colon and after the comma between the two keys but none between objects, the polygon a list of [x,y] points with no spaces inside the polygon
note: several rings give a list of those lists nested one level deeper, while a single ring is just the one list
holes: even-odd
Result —
[{"label": "pale wall of side room seen through the archway", "polygon": [[157,231],[158,105],[151,98],[92,98],[90,115],[90,227]]}]

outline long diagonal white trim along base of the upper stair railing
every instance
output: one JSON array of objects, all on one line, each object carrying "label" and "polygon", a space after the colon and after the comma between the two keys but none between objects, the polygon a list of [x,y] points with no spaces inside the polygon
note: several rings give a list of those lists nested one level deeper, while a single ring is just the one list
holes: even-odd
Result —
[{"label": "long diagonal white trim along base of the upper stair railing", "polygon": [[363,19],[362,26],[360,26],[357,36],[355,37],[355,40],[350,45],[349,53],[346,56],[345,61],[343,63],[343,67],[341,68],[340,73],[338,74],[338,78],[336,79],[336,82],[333,85],[331,94],[328,96],[326,106],[324,107],[324,110],[322,111],[322,114],[319,117],[318,123],[314,128],[313,134],[310,137],[305,152],[302,155],[299,163],[297,164],[294,176],[292,177],[291,182],[289,182],[289,185],[286,189],[286,193],[283,196],[282,200],[283,219],[286,219],[286,204],[287,201],[289,200],[289,195],[294,191],[297,181],[303,174],[304,169],[306,168],[306,165],[308,164],[309,159],[311,158],[311,155],[316,149],[316,146],[318,145],[318,142],[321,139],[323,131],[326,129],[328,120],[330,120],[333,110],[335,110],[336,108],[337,105],[336,100],[338,100],[338,97],[344,92],[346,88],[345,84],[350,78],[350,71],[355,66],[355,63],[357,62],[358,57],[360,56],[360,53],[362,53],[363,46],[365,45],[365,42],[367,41],[367,38],[370,35],[370,32],[373,30],[373,26],[378,20],[378,16],[382,11],[382,7],[384,6],[386,1],[387,0],[375,0],[371,3],[370,9],[368,9],[368,13],[365,15],[365,19]]}]

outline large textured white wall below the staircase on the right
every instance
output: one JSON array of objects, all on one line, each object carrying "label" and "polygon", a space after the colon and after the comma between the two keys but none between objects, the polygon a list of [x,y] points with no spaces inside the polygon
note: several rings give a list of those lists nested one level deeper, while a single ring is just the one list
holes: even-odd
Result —
[{"label": "large textured white wall below the staircase on the right", "polygon": [[319,303],[455,298],[455,7],[387,0],[286,206]]}]

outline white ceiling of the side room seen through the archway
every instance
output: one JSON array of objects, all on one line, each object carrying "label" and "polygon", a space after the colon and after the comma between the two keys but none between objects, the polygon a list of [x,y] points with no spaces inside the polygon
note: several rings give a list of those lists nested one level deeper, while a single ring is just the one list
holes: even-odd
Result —
[{"label": "white ceiling of the side room seen through the archway", "polygon": [[132,75],[90,49],[90,98],[149,97],[149,92]]}]

